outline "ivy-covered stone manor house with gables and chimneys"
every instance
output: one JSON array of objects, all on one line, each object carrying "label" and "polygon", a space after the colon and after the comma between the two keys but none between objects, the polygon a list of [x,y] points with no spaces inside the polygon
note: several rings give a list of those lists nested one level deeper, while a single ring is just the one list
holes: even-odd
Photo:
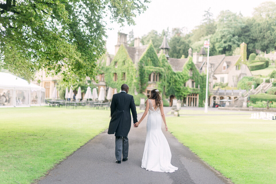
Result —
[{"label": "ivy-covered stone manor house with gables and chimneys", "polygon": [[[216,83],[227,83],[228,86],[236,87],[237,82],[244,76],[252,76],[250,70],[245,64],[246,61],[246,44],[242,43],[240,55],[226,56],[215,55],[209,57],[209,91]],[[181,88],[183,90],[189,89],[189,94],[186,94],[183,103],[186,106],[203,106],[205,100],[206,87],[206,67],[207,57],[206,51],[202,47],[199,53],[192,52],[190,48],[187,58],[170,58],[168,51],[170,46],[166,36],[159,47],[160,53],[156,53],[153,44],[142,45],[140,38],[135,38],[134,46],[129,47],[127,44],[127,34],[118,33],[118,41],[115,45],[115,55],[106,53],[99,59],[99,75],[98,82],[87,78],[94,85],[104,87],[106,91],[108,88],[120,90],[122,83],[129,84],[133,89],[133,95],[143,93],[146,96],[150,95],[150,91],[154,88],[161,90],[165,94],[170,105],[173,99],[179,96]],[[170,73],[173,80],[174,76],[183,76],[183,79],[176,81],[168,80],[168,73]],[[41,74],[40,74],[41,75]],[[204,78],[205,75],[205,78]],[[45,98],[51,98],[51,92],[57,82],[56,78],[43,77],[41,86],[46,89]],[[205,81],[204,81],[205,79]],[[174,83],[183,81],[180,89],[170,90],[174,87]],[[236,90],[231,94],[237,95]],[[229,96],[231,98],[231,96]],[[209,96],[209,105],[218,103],[224,97]],[[234,98],[234,97],[232,97]]]}]

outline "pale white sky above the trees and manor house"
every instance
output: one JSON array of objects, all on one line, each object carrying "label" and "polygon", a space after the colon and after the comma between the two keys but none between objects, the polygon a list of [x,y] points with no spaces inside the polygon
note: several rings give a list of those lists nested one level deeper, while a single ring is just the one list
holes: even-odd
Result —
[{"label": "pale white sky above the trees and manor house", "polygon": [[200,25],[204,11],[210,7],[210,12],[216,18],[220,11],[230,10],[235,13],[241,12],[244,17],[252,16],[255,7],[267,0],[152,0],[148,4],[148,9],[144,13],[134,18],[135,26],[120,27],[117,23],[108,24],[106,33],[106,48],[108,53],[114,54],[117,44],[118,32],[129,34],[131,30],[134,37],[142,37],[151,30],[162,30],[172,28],[183,28],[190,32]]}]

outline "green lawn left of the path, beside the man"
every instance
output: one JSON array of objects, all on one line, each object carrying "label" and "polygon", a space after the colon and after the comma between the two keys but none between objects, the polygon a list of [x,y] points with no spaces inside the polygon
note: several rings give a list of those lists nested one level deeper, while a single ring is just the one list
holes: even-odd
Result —
[{"label": "green lawn left of the path, beside the man", "polygon": [[108,128],[109,110],[0,109],[0,183],[31,183]]}]

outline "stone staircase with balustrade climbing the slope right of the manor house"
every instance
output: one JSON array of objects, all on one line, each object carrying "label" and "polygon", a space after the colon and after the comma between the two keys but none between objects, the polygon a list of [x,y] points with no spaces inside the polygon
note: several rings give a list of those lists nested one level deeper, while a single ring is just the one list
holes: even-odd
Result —
[{"label": "stone staircase with balustrade climbing the slope right of the manor house", "polygon": [[246,107],[247,106],[247,100],[248,96],[251,94],[259,94],[259,93],[265,93],[270,87],[272,87],[274,79],[269,80],[269,82],[265,82],[265,79],[263,82],[254,89],[254,85],[252,85],[252,88],[249,91],[244,92],[241,94],[238,98],[234,99],[231,103],[231,107]]}]

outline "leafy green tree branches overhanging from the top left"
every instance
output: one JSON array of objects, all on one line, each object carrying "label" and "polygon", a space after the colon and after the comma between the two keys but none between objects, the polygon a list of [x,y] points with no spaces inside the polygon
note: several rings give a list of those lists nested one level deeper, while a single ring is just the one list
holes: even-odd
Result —
[{"label": "leafy green tree branches overhanging from the top left", "polygon": [[[0,69],[26,80],[46,69],[84,79],[97,74],[104,53],[105,17],[122,26],[147,0],[0,0]],[[64,66],[64,67],[63,67]]]}]

